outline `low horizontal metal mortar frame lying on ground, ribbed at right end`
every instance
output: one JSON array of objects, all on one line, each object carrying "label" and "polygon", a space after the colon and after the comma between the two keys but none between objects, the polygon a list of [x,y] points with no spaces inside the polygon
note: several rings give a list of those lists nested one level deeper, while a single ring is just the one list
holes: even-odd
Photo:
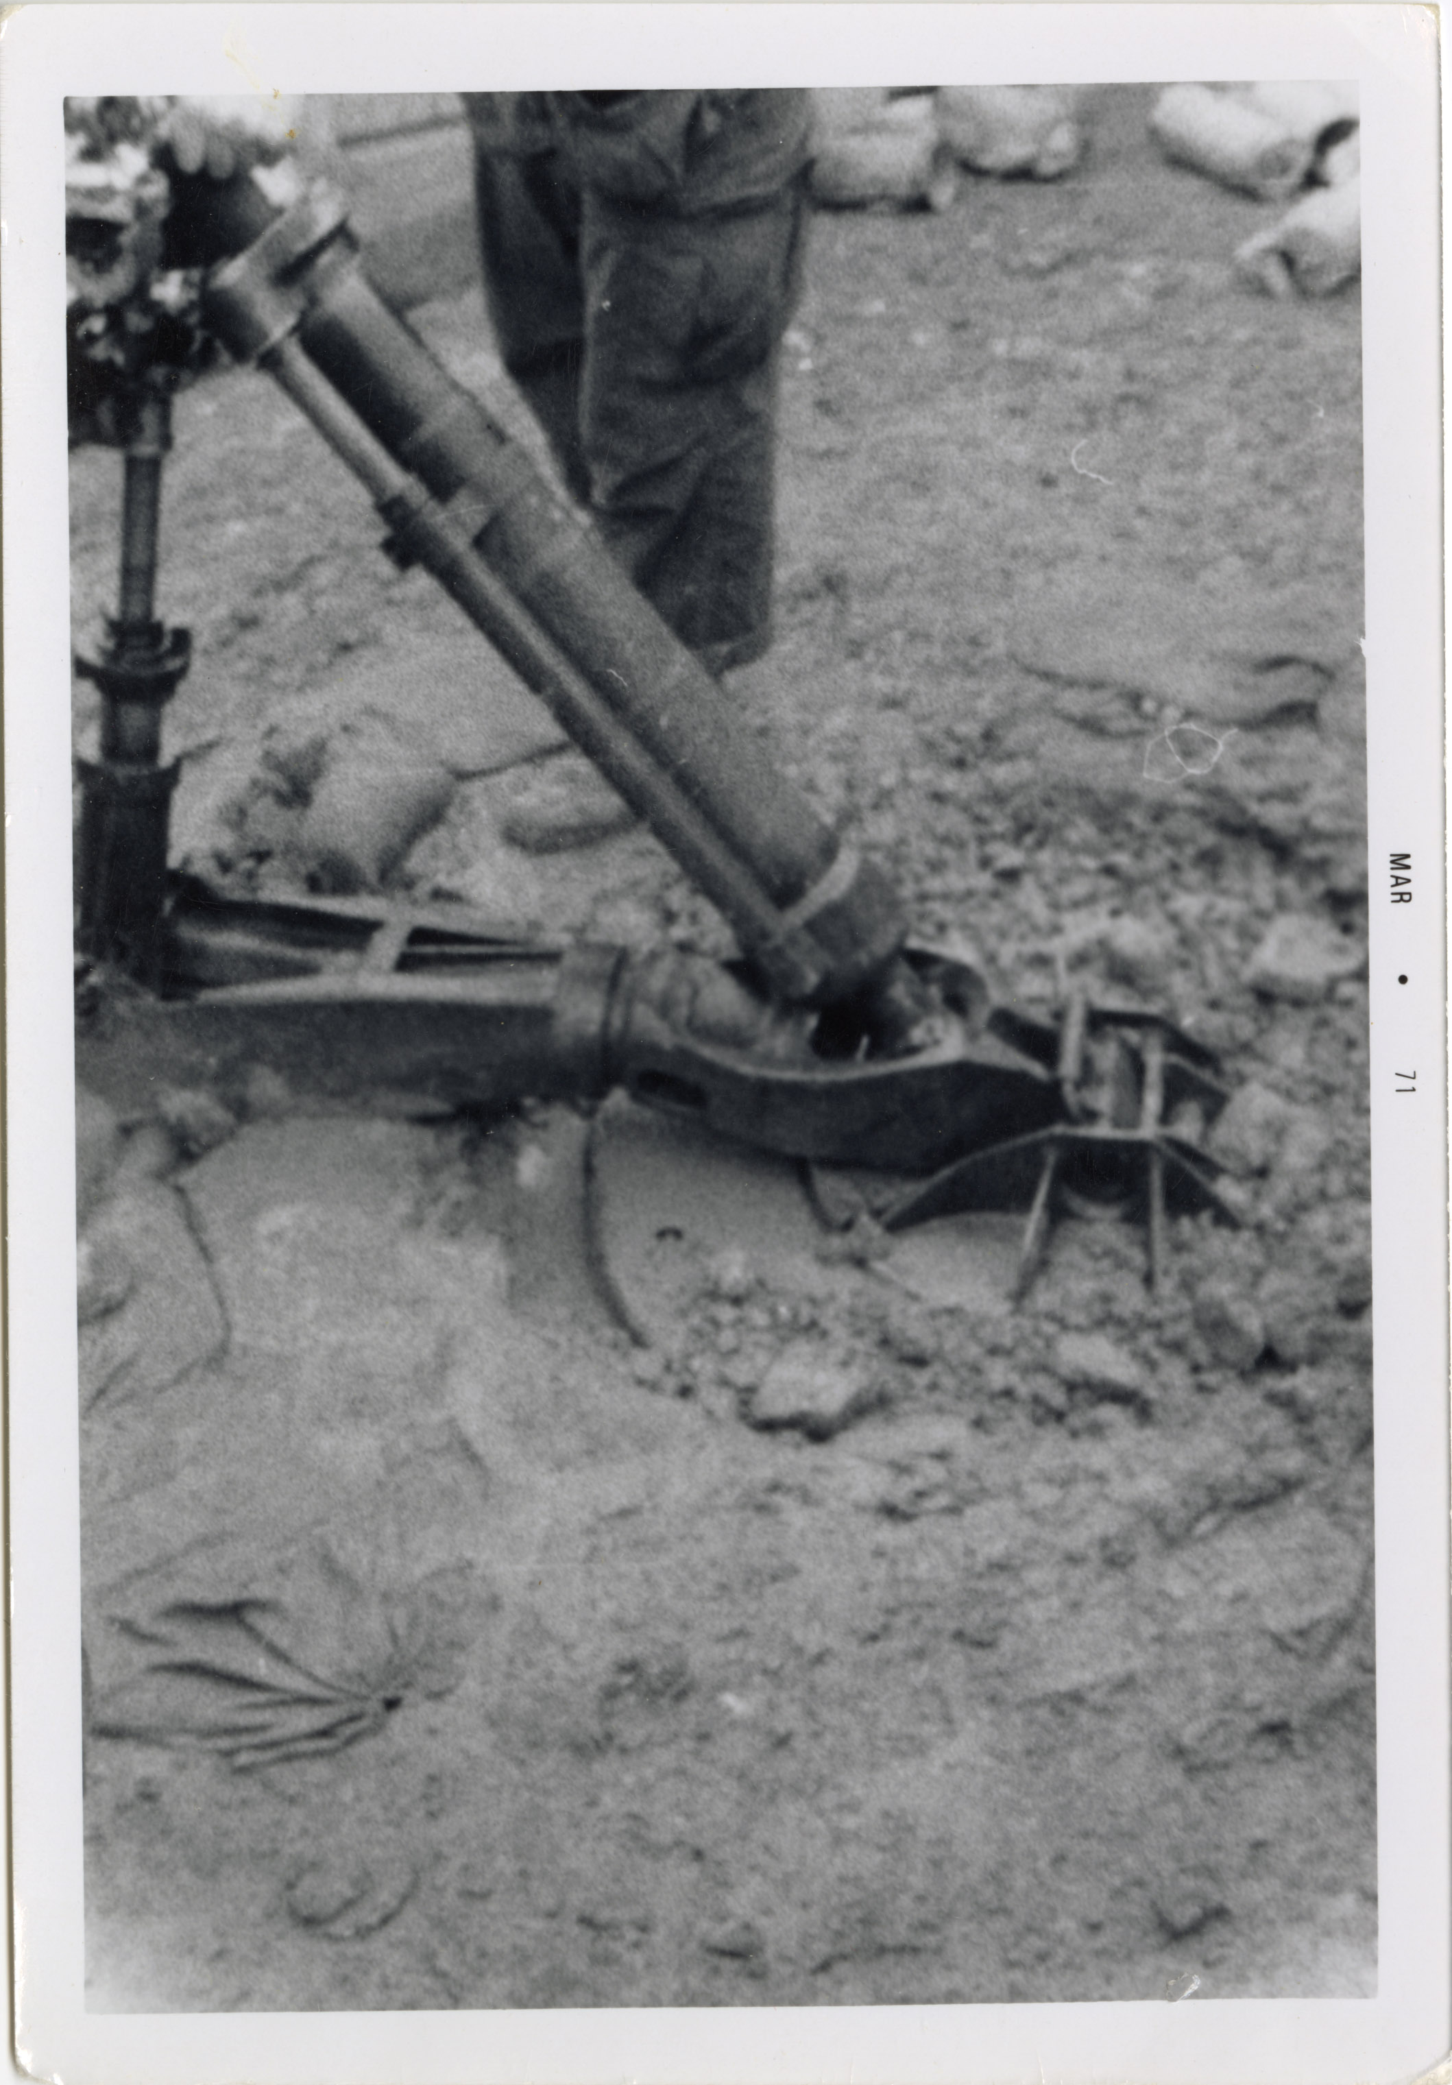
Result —
[{"label": "low horizontal metal mortar frame lying on ground, ribbed at right end", "polygon": [[[624,1088],[659,1113],[809,1161],[818,1211],[837,1228],[860,1213],[895,1232],[962,1209],[1028,1207],[1018,1293],[1056,1205],[1145,1216],[1152,1274],[1166,1209],[1235,1222],[1214,1161],[1160,1128],[1160,1115],[1206,1120],[1223,1103],[1208,1053],[1141,1015],[1083,1011],[1064,1028],[1024,1017],[930,951],[905,961],[943,1007],[945,1034],[912,1057],[872,1059],[847,1047],[841,1015],[782,1007],[743,967],[672,949],[526,942],[461,907],[236,901],[177,878],[165,949],[165,997],[100,990],[77,1024],[77,1076],[123,1109],[169,1084],[246,1111],[263,1072],[298,1101],[390,1111],[401,1099],[590,1105]],[[1110,1074],[1083,1076],[1070,1113],[1062,1036],[1074,1028],[1085,1061]],[[1158,1065],[1147,1082],[1145,1063]],[[1137,1126],[1124,1120],[1135,1109]]]}]

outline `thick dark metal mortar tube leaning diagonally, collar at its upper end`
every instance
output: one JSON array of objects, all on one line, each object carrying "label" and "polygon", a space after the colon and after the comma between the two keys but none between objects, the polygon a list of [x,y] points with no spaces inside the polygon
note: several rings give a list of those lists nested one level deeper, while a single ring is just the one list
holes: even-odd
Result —
[{"label": "thick dark metal mortar tube leaning diagonally, collar at its upper end", "polygon": [[[718,684],[634,590],[595,528],[388,311],[361,273],[340,215],[311,198],[277,217],[244,254],[213,271],[207,311],[223,344],[244,359],[269,352],[296,327],[307,357],[394,463],[436,500],[457,500],[459,513],[467,505],[484,563],[624,732],[611,740],[628,746],[620,759],[605,738],[586,751],[672,851],[678,819],[657,784],[668,782],[695,807],[695,828],[716,834],[736,884],[745,872],[770,901],[774,938],[784,926],[816,942],[814,997],[847,999],[880,978],[905,938],[889,880],[841,847],[770,751],[741,730]],[[538,692],[551,698],[547,686]],[[640,794],[649,776],[657,778],[655,796]],[[772,974],[770,942],[747,932],[726,890],[730,878],[707,880],[699,849],[680,859]]]}]

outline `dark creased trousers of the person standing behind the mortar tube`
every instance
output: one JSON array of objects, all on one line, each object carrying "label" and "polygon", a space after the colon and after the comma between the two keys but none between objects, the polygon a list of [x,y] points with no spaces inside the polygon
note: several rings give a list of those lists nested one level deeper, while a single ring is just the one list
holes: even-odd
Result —
[{"label": "dark creased trousers of the person standing behind the mortar tube", "polygon": [[805,179],[682,215],[592,190],[565,148],[480,146],[476,194],[499,348],[572,494],[711,671],[757,659]]}]

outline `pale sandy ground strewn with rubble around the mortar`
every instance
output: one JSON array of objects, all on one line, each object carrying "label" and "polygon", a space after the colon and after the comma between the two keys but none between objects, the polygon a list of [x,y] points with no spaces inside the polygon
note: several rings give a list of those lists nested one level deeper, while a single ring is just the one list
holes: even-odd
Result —
[{"label": "pale sandy ground strewn with rubble around the mortar", "polygon": [[[999,990],[1223,1051],[1245,1228],[1158,1299],[1081,1222],[1016,1316],[935,1303],[611,1109],[640,1347],[567,1111],[88,1105],[92,2006],[1375,1987],[1360,300],[1239,286],[1270,213],[1145,108],[1062,186],[818,219],[736,701]],[[476,296],[415,323],[492,382]],[[182,859],[296,886],[319,765],[403,736],[449,809],[396,892],[726,947],[638,832],[503,838],[549,721],[261,377],[177,419]],[[77,632],[115,500],[77,452]],[[828,1422],[764,1424],[793,1368]]]}]

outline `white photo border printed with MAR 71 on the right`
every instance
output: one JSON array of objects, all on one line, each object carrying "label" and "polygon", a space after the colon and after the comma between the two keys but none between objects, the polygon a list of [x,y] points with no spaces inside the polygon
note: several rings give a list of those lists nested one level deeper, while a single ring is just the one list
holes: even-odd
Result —
[{"label": "white photo border printed with MAR 71 on the right", "polygon": [[[1437,13],[1400,4],[29,6],[0,29],[17,2052],[65,2085],[1114,2079],[1352,2085],[1452,2039]],[[549,77],[542,77],[547,73]],[[67,94],[1360,81],[1375,1205],[1375,2000],[83,2010],[65,482]],[[1385,903],[1392,851],[1417,903]],[[1425,865],[1425,867],[1423,867]],[[1398,974],[1412,978],[1408,988]],[[1394,1093],[1410,1053],[1417,1099]]]}]

